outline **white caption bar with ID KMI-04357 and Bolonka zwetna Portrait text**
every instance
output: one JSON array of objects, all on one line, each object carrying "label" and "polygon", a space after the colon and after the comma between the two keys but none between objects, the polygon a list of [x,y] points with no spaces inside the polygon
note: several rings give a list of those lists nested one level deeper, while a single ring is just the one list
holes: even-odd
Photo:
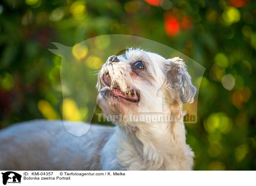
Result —
[{"label": "white caption bar with ID KMI-04357 and Bolonka zwetna Portrait text", "polygon": [[[255,171],[0,171],[0,185],[255,185]],[[15,184],[16,183],[16,184]]]}]

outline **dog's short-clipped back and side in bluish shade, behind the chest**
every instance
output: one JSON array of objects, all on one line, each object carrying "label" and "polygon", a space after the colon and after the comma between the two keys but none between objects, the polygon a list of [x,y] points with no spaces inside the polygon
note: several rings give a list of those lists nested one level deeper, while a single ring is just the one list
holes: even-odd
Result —
[{"label": "dog's short-clipped back and side in bluish shade, behind the chest", "polygon": [[[82,122],[65,122],[80,131]],[[101,149],[115,128],[91,125],[82,137],[63,121],[32,120],[0,131],[0,170],[101,170]]]}]

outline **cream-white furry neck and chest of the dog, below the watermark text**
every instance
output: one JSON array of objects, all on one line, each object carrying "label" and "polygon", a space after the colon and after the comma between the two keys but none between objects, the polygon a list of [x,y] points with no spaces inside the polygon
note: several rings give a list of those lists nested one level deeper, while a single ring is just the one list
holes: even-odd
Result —
[{"label": "cream-white furry neck and chest of the dog, below the watermark text", "polygon": [[194,153],[186,144],[183,116],[175,122],[137,122],[119,128],[117,157],[129,170],[192,169]]}]

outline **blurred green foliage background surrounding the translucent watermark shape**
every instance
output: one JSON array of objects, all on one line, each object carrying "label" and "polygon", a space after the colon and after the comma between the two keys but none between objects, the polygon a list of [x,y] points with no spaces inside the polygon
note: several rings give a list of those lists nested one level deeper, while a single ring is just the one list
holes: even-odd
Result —
[{"label": "blurred green foliage background surrounding the translucent watermark shape", "polygon": [[198,123],[186,124],[195,170],[256,170],[253,0],[3,0],[0,128],[61,118],[62,104],[77,109],[73,100],[62,103],[61,57],[47,48],[54,47],[51,42],[74,46],[105,34],[158,41],[206,67]]}]

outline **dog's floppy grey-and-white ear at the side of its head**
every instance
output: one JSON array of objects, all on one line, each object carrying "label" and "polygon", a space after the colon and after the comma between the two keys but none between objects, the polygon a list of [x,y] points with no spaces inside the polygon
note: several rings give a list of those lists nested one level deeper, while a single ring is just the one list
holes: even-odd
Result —
[{"label": "dog's floppy grey-and-white ear at the side of its head", "polygon": [[187,72],[185,62],[179,58],[167,59],[166,64],[166,81],[172,88],[179,91],[180,100],[183,104],[194,102],[196,87],[191,82],[191,77]]}]

